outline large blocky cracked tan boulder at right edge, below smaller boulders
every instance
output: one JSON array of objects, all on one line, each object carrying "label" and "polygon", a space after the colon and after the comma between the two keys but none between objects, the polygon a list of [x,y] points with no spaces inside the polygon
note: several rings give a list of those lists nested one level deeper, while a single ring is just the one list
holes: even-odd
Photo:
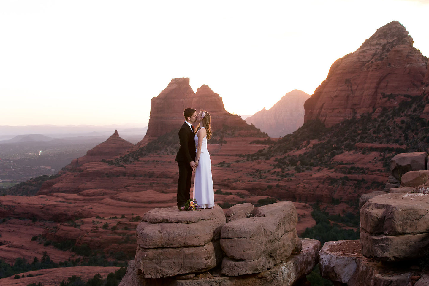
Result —
[{"label": "large blocky cracked tan boulder at right edge, below smaller boulders", "polygon": [[389,193],[360,209],[362,254],[385,261],[416,259],[429,247],[429,194]]}]

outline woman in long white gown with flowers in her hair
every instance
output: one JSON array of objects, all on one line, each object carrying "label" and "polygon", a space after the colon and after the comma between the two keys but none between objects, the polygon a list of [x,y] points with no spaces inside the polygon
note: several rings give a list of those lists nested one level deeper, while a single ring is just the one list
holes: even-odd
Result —
[{"label": "woman in long white gown with flowers in her hair", "polygon": [[207,111],[200,111],[196,122],[195,149],[196,169],[193,181],[193,198],[199,208],[213,208],[215,195],[213,193],[213,180],[211,178],[211,159],[207,150],[207,140],[211,138],[211,117]]}]

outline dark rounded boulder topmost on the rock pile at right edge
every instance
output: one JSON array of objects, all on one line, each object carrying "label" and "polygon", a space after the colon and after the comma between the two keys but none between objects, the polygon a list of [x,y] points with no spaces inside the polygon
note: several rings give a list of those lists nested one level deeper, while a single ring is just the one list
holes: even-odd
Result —
[{"label": "dark rounded boulder topmost on the rock pile at right edge", "polygon": [[402,175],[410,171],[426,170],[428,155],[426,152],[401,153],[390,161],[390,172],[402,181]]}]

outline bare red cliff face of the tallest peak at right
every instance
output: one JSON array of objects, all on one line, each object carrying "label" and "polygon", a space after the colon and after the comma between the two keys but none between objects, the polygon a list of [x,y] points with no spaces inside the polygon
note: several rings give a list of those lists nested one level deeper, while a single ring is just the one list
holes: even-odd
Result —
[{"label": "bare red cliff face of the tallest peak at right", "polygon": [[379,28],[359,49],[336,60],[327,78],[305,102],[304,121],[332,126],[356,113],[395,107],[404,95],[421,94],[427,58],[398,21]]}]

